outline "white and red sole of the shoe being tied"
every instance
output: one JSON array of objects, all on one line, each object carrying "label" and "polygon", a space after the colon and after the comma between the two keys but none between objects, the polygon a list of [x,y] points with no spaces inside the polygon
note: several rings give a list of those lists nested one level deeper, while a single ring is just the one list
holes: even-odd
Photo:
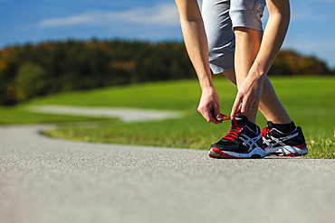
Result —
[{"label": "white and red sole of the shoe being tied", "polygon": [[254,148],[250,153],[234,153],[231,151],[221,151],[213,147],[208,152],[209,157],[215,159],[260,159],[265,157],[265,151],[260,148]]}]

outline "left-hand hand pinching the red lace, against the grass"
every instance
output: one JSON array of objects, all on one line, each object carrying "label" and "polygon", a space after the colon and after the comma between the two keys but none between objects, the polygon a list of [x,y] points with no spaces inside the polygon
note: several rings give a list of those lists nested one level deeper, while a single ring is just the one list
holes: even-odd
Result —
[{"label": "left-hand hand pinching the red lace, against the grass", "polygon": [[203,89],[197,111],[205,117],[207,122],[211,122],[214,124],[222,123],[219,96],[215,88]]}]

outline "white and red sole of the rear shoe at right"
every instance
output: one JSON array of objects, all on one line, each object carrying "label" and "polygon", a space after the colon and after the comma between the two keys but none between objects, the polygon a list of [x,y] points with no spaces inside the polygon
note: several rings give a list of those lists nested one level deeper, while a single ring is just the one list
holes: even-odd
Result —
[{"label": "white and red sole of the rear shoe at right", "polygon": [[308,153],[308,149],[306,147],[296,147],[292,145],[279,146],[274,148],[265,148],[266,155],[278,155],[282,157],[295,157],[302,156]]}]

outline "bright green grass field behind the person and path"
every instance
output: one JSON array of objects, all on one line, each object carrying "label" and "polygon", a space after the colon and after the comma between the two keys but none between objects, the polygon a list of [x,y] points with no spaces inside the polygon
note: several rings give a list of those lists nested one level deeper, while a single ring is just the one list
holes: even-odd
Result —
[{"label": "bright green grass field behind the person and path", "polygon": [[[297,125],[302,125],[310,147],[308,156],[335,158],[335,79],[271,78],[277,94]],[[216,78],[221,96],[221,112],[229,114],[236,90],[225,79]],[[134,86],[92,89],[36,98],[18,107],[0,107],[0,124],[63,122],[46,135],[108,144],[142,144],[163,147],[208,149],[208,145],[225,135],[230,123],[207,123],[197,113],[200,88],[196,80],[148,83]],[[28,113],[32,105],[82,107],[140,107],[183,111],[186,116],[147,123],[121,123],[116,119],[99,120],[84,116],[51,116]],[[72,123],[68,123],[71,121]],[[94,125],[83,121],[95,121]],[[266,121],[257,118],[262,128]]]}]

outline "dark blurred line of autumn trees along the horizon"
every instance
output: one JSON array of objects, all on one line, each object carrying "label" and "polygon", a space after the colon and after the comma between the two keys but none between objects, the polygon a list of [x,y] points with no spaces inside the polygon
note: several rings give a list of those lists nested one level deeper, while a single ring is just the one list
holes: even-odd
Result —
[{"label": "dark blurred line of autumn trees along the horizon", "polygon": [[[269,75],[333,74],[326,63],[280,51]],[[182,42],[67,40],[0,50],[0,105],[88,88],[171,79],[196,79]]]}]

